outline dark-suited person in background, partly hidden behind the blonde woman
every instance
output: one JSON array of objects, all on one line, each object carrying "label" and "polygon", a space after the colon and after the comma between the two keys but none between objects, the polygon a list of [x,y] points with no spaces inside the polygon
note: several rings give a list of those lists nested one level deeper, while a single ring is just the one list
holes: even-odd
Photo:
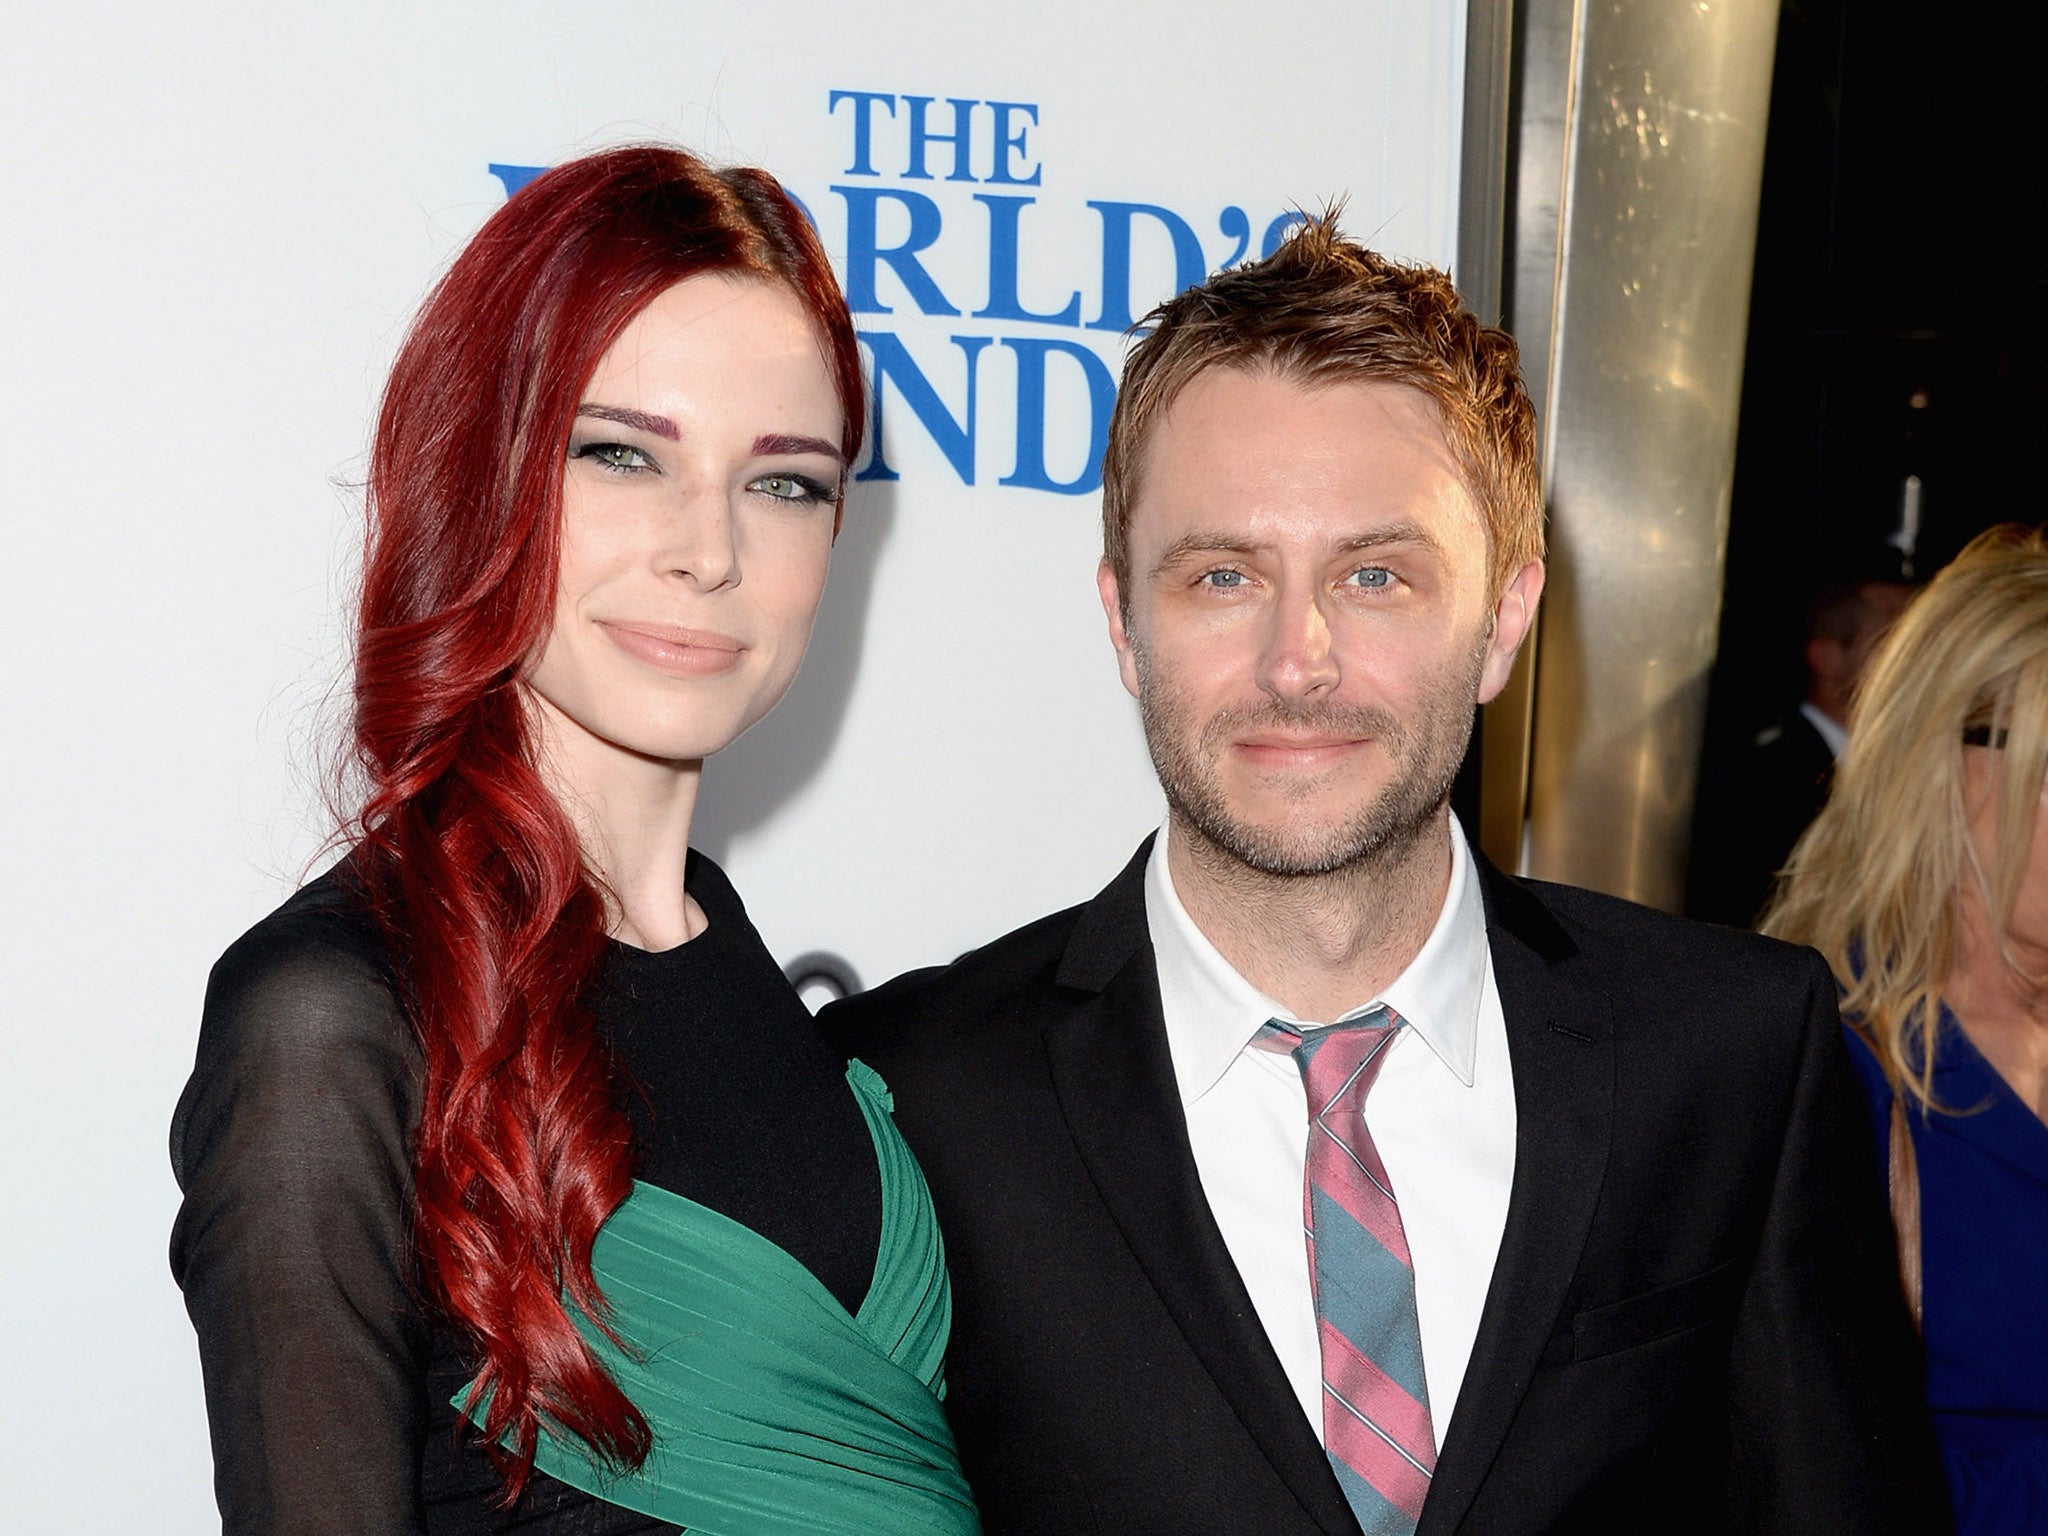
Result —
[{"label": "dark-suited person in background, partly hidden behind the blonde woman", "polygon": [[1870,651],[1905,608],[1905,582],[1835,582],[1806,604],[1806,696],[1700,782],[1686,915],[1749,928],[1792,844],[1827,803]]}]

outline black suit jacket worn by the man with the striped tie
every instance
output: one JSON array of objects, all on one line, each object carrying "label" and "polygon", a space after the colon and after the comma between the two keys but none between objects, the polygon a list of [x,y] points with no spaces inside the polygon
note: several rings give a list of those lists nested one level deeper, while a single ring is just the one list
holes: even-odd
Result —
[{"label": "black suit jacket worn by the man with the striped tie", "polygon": [[[938,1202],[946,1407],[991,1536],[1356,1536],[1202,1196],[1145,852],[823,1020]],[[1819,956],[1481,881],[1516,1174],[1419,1536],[1944,1528]]]}]

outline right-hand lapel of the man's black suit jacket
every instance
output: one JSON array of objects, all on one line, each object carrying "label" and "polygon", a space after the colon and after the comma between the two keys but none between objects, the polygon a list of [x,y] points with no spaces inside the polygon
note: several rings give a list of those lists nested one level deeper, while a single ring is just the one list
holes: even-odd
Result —
[{"label": "right-hand lapel of the man's black suit jacket", "polygon": [[1516,1176],[1473,1360],[1417,1536],[1458,1530],[1563,1315],[1614,1128],[1614,1022],[1573,979],[1577,946],[1542,903],[1479,860],[1487,944],[1516,1077]]}]

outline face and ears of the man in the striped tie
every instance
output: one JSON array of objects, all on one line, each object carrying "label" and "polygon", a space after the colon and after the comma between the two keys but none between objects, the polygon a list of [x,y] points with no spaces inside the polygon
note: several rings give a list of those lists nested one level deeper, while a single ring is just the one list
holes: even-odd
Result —
[{"label": "face and ears of the man in the striped tie", "polygon": [[1495,600],[1436,406],[1395,383],[1202,373],[1153,426],[1128,549],[1102,602],[1167,803],[1272,874],[1438,815],[1542,592],[1530,563]]}]

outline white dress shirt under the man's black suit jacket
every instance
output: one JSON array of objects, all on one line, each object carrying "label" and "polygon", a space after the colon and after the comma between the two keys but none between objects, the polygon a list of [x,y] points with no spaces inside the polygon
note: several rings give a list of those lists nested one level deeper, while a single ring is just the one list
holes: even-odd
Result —
[{"label": "white dress shirt under the man's black suit jacket", "polygon": [[[1208,1208],[1303,1413],[1323,1434],[1323,1366],[1300,1227],[1309,1102],[1292,1059],[1251,1038],[1298,1020],[1231,969],[1174,893],[1169,829],[1145,870],[1145,915],[1174,1075]],[[1450,819],[1450,889],[1436,928],[1378,997],[1407,1028],[1366,1100],[1366,1126],[1401,1204],[1438,1446],[1464,1382],[1516,1171],[1516,1094],[1473,856]]]}]

